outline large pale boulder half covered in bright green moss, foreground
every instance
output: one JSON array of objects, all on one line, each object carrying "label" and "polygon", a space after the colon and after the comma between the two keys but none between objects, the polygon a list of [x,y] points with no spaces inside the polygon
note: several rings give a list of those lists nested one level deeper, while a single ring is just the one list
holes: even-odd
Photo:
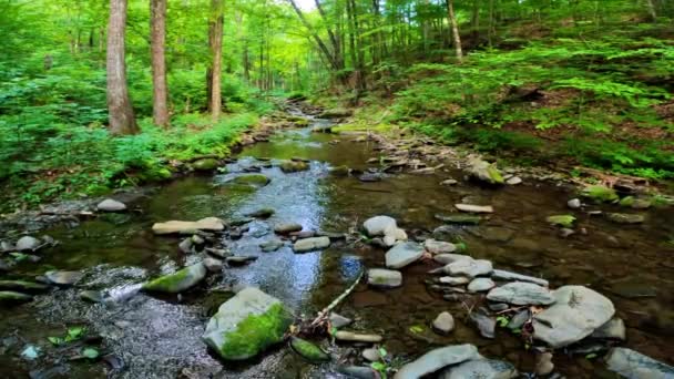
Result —
[{"label": "large pale boulder half covered in bright green moss, foreground", "polygon": [[202,339],[225,360],[244,360],[283,341],[292,314],[275,297],[255,287],[223,303]]}]

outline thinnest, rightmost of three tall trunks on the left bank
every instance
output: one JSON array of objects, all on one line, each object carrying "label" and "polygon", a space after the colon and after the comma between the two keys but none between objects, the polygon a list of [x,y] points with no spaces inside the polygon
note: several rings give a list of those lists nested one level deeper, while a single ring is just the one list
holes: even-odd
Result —
[{"label": "thinnest, rightmost of three tall trunks on the left bank", "polygon": [[211,65],[211,96],[208,110],[213,120],[217,120],[222,110],[221,80],[223,66],[223,0],[211,0],[211,18],[208,21],[208,45],[213,63]]}]

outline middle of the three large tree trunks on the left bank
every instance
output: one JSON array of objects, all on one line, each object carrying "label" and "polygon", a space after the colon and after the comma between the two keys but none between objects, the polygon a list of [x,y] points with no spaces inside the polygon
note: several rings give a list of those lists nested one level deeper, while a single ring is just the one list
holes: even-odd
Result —
[{"label": "middle of the three large tree trunks on the left bank", "polygon": [[150,0],[152,51],[152,116],[159,126],[168,126],[168,85],[166,83],[166,0]]}]

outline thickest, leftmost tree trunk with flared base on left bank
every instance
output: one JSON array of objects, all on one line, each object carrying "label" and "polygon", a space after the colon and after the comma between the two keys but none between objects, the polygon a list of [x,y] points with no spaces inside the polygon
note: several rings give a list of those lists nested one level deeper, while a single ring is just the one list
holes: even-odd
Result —
[{"label": "thickest, leftmost tree trunk with flared base on left bank", "polygon": [[110,133],[135,134],[133,107],[126,88],[126,66],[124,64],[124,30],[126,29],[126,0],[110,1],[108,23],[108,111]]}]

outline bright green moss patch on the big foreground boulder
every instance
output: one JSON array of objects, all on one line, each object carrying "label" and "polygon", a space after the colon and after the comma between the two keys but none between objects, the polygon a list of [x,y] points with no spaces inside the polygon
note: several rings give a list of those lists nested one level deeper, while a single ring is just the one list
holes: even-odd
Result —
[{"label": "bright green moss patch on the big foreground boulder", "polygon": [[241,360],[254,357],[267,347],[278,344],[293,322],[293,318],[277,303],[262,315],[251,315],[238,322],[236,330],[223,335],[226,341],[219,349],[224,359]]}]

